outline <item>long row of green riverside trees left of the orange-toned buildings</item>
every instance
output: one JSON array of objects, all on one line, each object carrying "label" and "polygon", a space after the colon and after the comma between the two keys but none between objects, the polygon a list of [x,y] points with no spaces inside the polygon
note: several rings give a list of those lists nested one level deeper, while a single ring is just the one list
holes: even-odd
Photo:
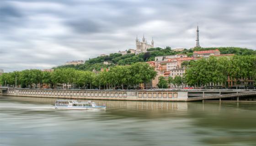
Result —
[{"label": "long row of green riverside trees left of the orange-toned buildings", "polygon": [[69,84],[72,89],[134,89],[139,83],[147,83],[155,76],[156,72],[149,64],[133,63],[129,66],[115,66],[99,73],[74,68],[57,68],[53,72],[37,69],[15,71],[3,73],[0,83],[5,85],[6,81],[6,84],[15,87],[17,77],[17,85],[22,88],[42,88],[43,85],[57,88],[58,85]]}]

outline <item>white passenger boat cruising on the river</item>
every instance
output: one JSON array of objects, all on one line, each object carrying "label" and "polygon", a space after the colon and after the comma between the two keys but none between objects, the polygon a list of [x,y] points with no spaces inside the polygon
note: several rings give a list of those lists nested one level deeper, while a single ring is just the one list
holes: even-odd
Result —
[{"label": "white passenger boat cruising on the river", "polygon": [[106,106],[97,106],[95,102],[77,100],[55,100],[55,109],[65,110],[106,110]]}]

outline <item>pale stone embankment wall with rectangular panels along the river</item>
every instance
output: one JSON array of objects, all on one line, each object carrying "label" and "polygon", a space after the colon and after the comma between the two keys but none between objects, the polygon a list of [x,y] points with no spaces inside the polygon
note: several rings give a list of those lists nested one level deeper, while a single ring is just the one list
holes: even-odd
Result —
[{"label": "pale stone embankment wall with rectangular panels along the river", "polygon": [[63,99],[186,101],[187,91],[8,89],[3,95]]}]

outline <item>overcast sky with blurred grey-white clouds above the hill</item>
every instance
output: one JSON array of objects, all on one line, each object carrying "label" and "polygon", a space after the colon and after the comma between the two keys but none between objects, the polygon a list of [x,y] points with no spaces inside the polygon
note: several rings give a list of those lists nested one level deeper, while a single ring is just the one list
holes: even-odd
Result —
[{"label": "overcast sky with blurred grey-white clouds above the hill", "polygon": [[135,48],[256,49],[256,0],[0,0],[0,68],[52,68]]}]

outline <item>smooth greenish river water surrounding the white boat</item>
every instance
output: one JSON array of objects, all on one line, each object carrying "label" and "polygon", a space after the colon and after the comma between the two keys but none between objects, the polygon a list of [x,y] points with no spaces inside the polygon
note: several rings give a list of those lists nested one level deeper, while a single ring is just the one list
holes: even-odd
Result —
[{"label": "smooth greenish river water surrounding the white boat", "polygon": [[106,111],[76,111],[54,101],[0,96],[0,146],[256,146],[256,103],[92,100]]}]

